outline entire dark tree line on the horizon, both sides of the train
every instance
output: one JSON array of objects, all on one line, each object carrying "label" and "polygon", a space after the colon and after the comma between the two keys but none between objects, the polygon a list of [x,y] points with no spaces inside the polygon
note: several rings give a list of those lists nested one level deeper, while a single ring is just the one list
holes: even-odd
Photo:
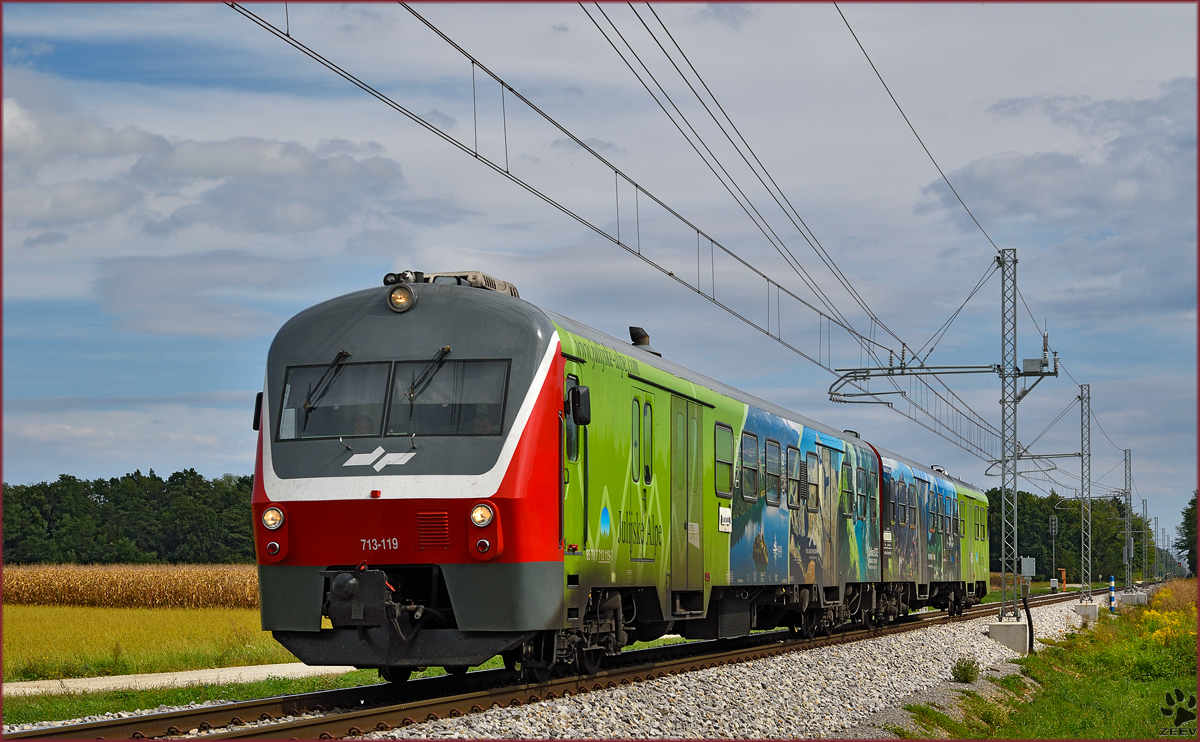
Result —
[{"label": "entire dark tree line on the horizon, both sides of the train", "polygon": [[[250,498],[253,477],[226,474],[205,479],[196,469],[162,479],[150,469],[114,479],[77,479],[4,485],[4,561],[22,563],[236,563],[254,561]],[[1079,502],[1052,492],[1018,496],[1018,556],[1037,560],[1037,578],[1052,576],[1052,567],[1079,580]],[[988,537],[991,570],[1000,572],[1000,489],[988,491]],[[1058,516],[1058,533],[1050,535],[1050,516]],[[1141,579],[1140,515],[1132,517],[1134,579]],[[1195,574],[1196,498],[1183,510],[1181,551]],[[1124,579],[1121,531],[1124,502],[1092,499],[1093,578]],[[1165,551],[1163,552],[1165,557]],[[1153,569],[1151,546],[1150,569]]]}]

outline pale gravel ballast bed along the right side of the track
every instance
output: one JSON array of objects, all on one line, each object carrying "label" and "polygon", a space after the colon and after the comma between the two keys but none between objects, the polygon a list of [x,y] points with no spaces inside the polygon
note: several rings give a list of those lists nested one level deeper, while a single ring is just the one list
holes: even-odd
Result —
[{"label": "pale gravel ballast bed along the right side of the track", "polygon": [[[1038,638],[1078,626],[1073,603],[1036,608]],[[984,632],[994,617],[893,636],[793,652],[752,663],[656,678],[611,690],[492,708],[370,738],[697,738],[846,736],[857,724],[950,682],[950,668],[973,657],[1000,670],[1016,652]],[[872,735],[876,736],[876,735]]]}]

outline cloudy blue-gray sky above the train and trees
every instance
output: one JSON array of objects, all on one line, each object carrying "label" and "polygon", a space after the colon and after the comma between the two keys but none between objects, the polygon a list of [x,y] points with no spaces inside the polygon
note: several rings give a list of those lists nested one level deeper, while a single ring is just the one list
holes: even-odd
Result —
[{"label": "cloudy blue-gray sky above the train and trees", "polygon": [[[928,351],[996,249],[1015,249],[1018,358],[1039,357],[1048,329],[1063,369],[1021,401],[1019,439],[1078,453],[1088,384],[1093,495],[1123,487],[1132,449],[1135,509],[1145,498],[1174,538],[1196,487],[1194,5],[846,4],[845,22],[832,4],[414,6],[504,79],[503,95],[403,6],[245,7],[461,146],[224,5],[5,4],[6,483],[251,473],[275,331],[410,268],[484,270],[620,339],[643,327],[701,373],[997,486],[986,461],[911,419],[830,402],[835,375],[683,285],[827,366],[874,363],[708,251],[712,238],[816,304],[775,234],[857,331],[898,354],[900,340]],[[769,231],[600,28],[646,65]],[[656,46],[688,71],[672,38],[692,88],[710,91],[709,109],[728,114],[786,202]],[[604,234],[618,229],[683,283]],[[1000,304],[996,274],[925,363],[1000,363]],[[1000,425],[995,375],[946,382]],[[1054,461],[1054,481],[1021,489],[1074,495],[1079,459]]]}]

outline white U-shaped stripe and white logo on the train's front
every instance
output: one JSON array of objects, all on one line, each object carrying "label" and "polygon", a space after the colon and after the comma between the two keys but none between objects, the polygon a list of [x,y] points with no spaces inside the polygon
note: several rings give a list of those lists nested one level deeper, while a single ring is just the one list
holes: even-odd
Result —
[{"label": "white U-shaped stripe and white logo on the train's front", "polygon": [[[416,474],[412,477],[396,478],[384,474],[371,474],[364,477],[314,477],[308,479],[281,479],[275,474],[271,463],[270,436],[264,436],[263,441],[263,487],[266,496],[275,502],[296,502],[316,499],[360,499],[371,490],[379,490],[384,498],[406,499],[439,499],[455,497],[491,497],[500,487],[504,473],[512,461],[517,443],[529,424],[533,408],[541,396],[541,390],[550,381],[550,370],[554,365],[554,358],[559,353],[558,333],[550,336],[550,345],[546,354],[542,355],[534,373],[533,383],[526,399],[521,402],[517,417],[512,421],[512,430],[504,439],[500,455],[493,466],[482,474]],[[270,420],[264,399],[263,421],[265,426]],[[264,429],[265,430],[265,429]],[[384,467],[396,465],[403,466],[420,451],[386,453],[380,445],[368,454],[352,454],[342,466],[370,466],[377,472]],[[380,457],[380,454],[383,456]]]}]

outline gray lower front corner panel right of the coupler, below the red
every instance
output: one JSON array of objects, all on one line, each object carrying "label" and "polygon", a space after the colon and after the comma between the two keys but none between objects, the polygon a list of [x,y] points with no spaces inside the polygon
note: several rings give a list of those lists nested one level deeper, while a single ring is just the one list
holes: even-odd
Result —
[{"label": "gray lower front corner panel right of the coupler, below the red", "polygon": [[462,632],[532,632],[563,627],[562,562],[440,564]]}]

